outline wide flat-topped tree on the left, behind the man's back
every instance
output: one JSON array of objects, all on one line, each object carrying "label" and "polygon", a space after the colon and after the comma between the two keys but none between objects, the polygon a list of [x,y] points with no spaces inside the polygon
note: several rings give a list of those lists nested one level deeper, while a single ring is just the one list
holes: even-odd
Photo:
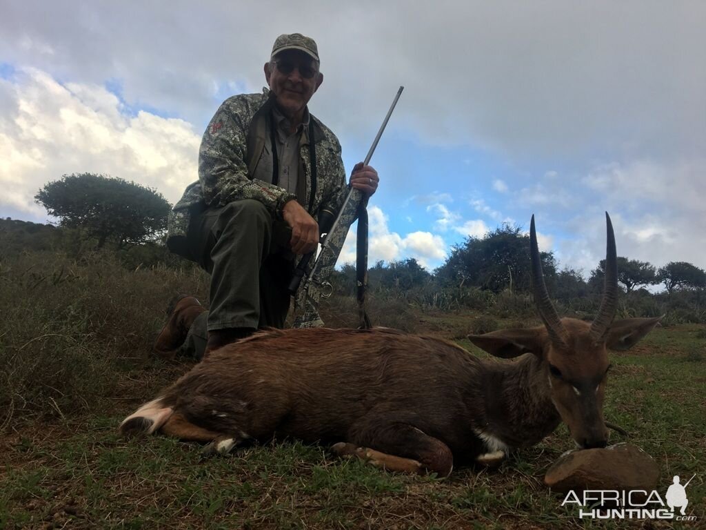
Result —
[{"label": "wide flat-topped tree on the left, behind the man's back", "polygon": [[114,240],[118,248],[154,239],[167,228],[169,202],[154,189],[92,173],[64,175],[35,195],[59,225],[83,228],[97,247]]}]

